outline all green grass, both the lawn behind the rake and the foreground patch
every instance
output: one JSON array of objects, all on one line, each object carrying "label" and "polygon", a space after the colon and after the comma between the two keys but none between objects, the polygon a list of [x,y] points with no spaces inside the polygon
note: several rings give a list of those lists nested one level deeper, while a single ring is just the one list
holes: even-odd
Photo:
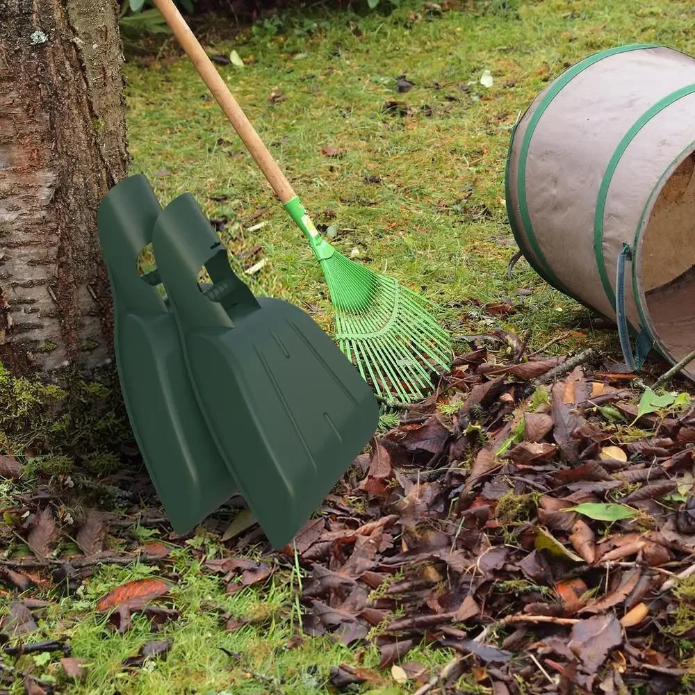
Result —
[{"label": "all green grass, both the lawn behind the rake and the foreground patch", "polygon": [[[245,61],[220,71],[315,222],[335,227],[339,250],[443,306],[464,302],[445,308],[454,334],[502,328],[530,331],[533,349],[558,334],[563,338],[550,351],[591,343],[613,349],[612,334],[593,331],[587,310],[544,285],[525,261],[507,279],[516,251],[503,185],[509,133],[537,92],[588,54],[633,42],[695,51],[692,8],[672,0],[448,4],[441,11],[409,1],[389,15],[366,17],[321,8],[284,13],[209,49],[222,56],[236,50]],[[221,220],[236,263],[248,268],[267,259],[246,276],[254,292],[297,302],[330,329],[327,291],[309,247],[193,67],[170,52],[126,66],[132,172],[147,174],[163,203],[193,193],[208,217]],[[484,70],[493,76],[489,88],[480,84]],[[413,83],[409,91],[398,92],[400,76]],[[389,102],[400,103],[384,108]],[[261,250],[254,252],[256,245]],[[500,318],[481,308],[507,297],[519,311]],[[16,491],[5,486],[0,493],[9,500]],[[120,534],[115,546],[167,541],[135,525]],[[329,667],[377,665],[374,648],[358,653],[326,639],[287,646],[299,619],[295,573],[281,570],[261,590],[227,595],[192,553],[202,547],[214,557],[219,546],[218,533],[202,530],[173,544],[177,583],[170,603],[181,619],[154,636],[143,616],[117,635],[94,612],[95,600],[110,589],[156,575],[148,566],[106,566],[77,594],[34,591],[52,602],[38,613],[45,639],[60,634],[88,662],[88,680],[63,692],[308,695],[327,692]],[[228,633],[221,614],[250,624]],[[173,640],[167,659],[124,670],[124,658],[148,639]],[[449,658],[445,650],[424,648],[408,656],[428,667]],[[37,676],[63,682],[58,659],[27,655],[17,667],[33,661]],[[373,681],[354,692],[411,692],[388,670],[382,676],[382,685]],[[484,692],[470,676],[459,687]],[[19,683],[11,688],[24,692]]]}]

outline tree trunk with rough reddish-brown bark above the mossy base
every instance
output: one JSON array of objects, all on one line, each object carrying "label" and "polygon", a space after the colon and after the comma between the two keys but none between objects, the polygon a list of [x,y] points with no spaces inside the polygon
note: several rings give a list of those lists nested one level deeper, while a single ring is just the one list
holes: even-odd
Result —
[{"label": "tree trunk with rough reddish-brown bark above the mossy base", "polygon": [[0,362],[15,375],[111,359],[97,208],[126,175],[122,63],[115,0],[0,0]]}]

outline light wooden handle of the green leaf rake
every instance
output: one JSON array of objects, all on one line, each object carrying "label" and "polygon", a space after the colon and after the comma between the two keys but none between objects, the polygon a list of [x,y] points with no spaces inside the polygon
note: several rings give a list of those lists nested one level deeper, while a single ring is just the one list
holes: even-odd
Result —
[{"label": "light wooden handle of the green leaf rake", "polygon": [[174,36],[176,36],[183,50],[186,51],[198,74],[202,77],[204,83],[208,85],[208,89],[215,97],[215,101],[222,107],[222,111],[224,111],[229,122],[234,126],[238,136],[243,140],[244,145],[248,148],[256,164],[259,165],[265,178],[268,179],[268,183],[272,186],[272,190],[275,191],[275,195],[279,197],[280,202],[283,204],[291,201],[296,195],[290,182],[281,172],[277,162],[272,158],[272,154],[268,152],[268,148],[263,145],[263,140],[259,138],[259,134],[256,133],[254,126],[252,126],[250,120],[247,119],[245,113],[241,110],[238,102],[234,99],[234,95],[229,91],[227,83],[224,82],[220,73],[215,69],[203,47],[195,38],[193,31],[190,31],[186,20],[181,17],[181,13],[174,6],[173,1],[152,1],[174,32]]}]

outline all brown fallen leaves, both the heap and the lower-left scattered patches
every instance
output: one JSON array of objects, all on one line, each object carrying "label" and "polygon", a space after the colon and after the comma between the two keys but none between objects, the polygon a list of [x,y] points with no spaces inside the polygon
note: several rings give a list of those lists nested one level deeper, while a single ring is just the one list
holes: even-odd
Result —
[{"label": "all brown fallen leaves, both the heap and the lower-left scattered patches", "polygon": [[[695,407],[673,393],[644,398],[586,361],[564,371],[564,357],[524,361],[523,345],[501,332],[471,338],[436,393],[375,435],[291,545],[272,552],[236,510],[218,524],[221,553],[188,546],[200,571],[227,594],[300,573],[291,581],[304,633],[352,649],[326,674],[336,690],[454,693],[468,674],[495,694],[689,692]],[[19,480],[21,466],[2,459],[0,473]],[[118,473],[109,489],[119,482],[135,493],[130,513],[167,528],[161,512],[142,508],[147,480]],[[22,594],[0,618],[12,653],[43,648],[32,638],[49,604],[33,589],[76,589],[101,564],[138,562],[161,578],[115,587],[91,610],[117,632],[140,614],[161,634],[124,668],[165,657],[181,609],[170,552],[186,537],[115,552],[117,514],[81,507],[72,518],[44,486],[16,499],[3,513],[25,554],[0,560],[1,584]],[[261,551],[249,557],[252,546]],[[221,616],[229,632],[254,621]],[[375,669],[363,660],[369,644]],[[411,659],[418,646],[455,657],[437,670]],[[83,678],[79,657],[66,655],[66,677]]]}]

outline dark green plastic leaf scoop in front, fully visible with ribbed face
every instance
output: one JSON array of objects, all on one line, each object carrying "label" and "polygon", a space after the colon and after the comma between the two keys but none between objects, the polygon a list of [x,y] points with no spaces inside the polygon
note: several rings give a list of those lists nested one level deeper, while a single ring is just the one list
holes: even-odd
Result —
[{"label": "dark green plastic leaf scoop in front, fully visible with ribbed face", "polygon": [[152,244],[208,430],[266,536],[284,546],[375,432],[375,395],[307,313],[254,297],[190,194],[158,215]]}]

